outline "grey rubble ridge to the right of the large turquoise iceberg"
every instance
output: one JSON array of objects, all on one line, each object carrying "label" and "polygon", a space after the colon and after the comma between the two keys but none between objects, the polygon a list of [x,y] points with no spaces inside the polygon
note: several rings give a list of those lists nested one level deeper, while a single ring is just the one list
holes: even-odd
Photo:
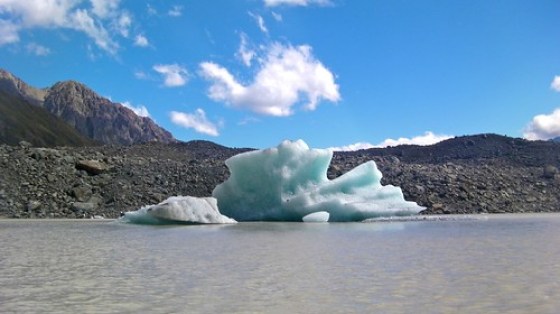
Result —
[{"label": "grey rubble ridge to the right of the large turquoise iceberg", "polygon": [[368,159],[425,214],[560,211],[560,143],[479,134],[340,153],[332,164],[340,174]]}]

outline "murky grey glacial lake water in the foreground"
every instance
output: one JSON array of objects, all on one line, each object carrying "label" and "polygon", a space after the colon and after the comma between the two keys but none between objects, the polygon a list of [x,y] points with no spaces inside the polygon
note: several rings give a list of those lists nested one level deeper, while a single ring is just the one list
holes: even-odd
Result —
[{"label": "murky grey glacial lake water in the foreground", "polygon": [[0,220],[1,313],[557,313],[560,214]]}]

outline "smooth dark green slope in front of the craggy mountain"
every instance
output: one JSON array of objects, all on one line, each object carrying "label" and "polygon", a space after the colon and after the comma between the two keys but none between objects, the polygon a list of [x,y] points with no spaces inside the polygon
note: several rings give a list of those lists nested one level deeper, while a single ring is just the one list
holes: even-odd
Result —
[{"label": "smooth dark green slope in front of the craggy mountain", "polygon": [[0,91],[0,143],[34,146],[85,146],[96,144],[45,109]]}]

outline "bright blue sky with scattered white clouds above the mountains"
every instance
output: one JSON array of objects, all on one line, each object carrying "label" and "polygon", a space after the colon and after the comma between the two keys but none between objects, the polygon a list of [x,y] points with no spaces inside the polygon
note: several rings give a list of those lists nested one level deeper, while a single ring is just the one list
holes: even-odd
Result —
[{"label": "bright blue sky with scattered white clouds above the mountains", "polygon": [[0,67],[180,140],[264,148],[560,135],[557,0],[0,0]]}]

